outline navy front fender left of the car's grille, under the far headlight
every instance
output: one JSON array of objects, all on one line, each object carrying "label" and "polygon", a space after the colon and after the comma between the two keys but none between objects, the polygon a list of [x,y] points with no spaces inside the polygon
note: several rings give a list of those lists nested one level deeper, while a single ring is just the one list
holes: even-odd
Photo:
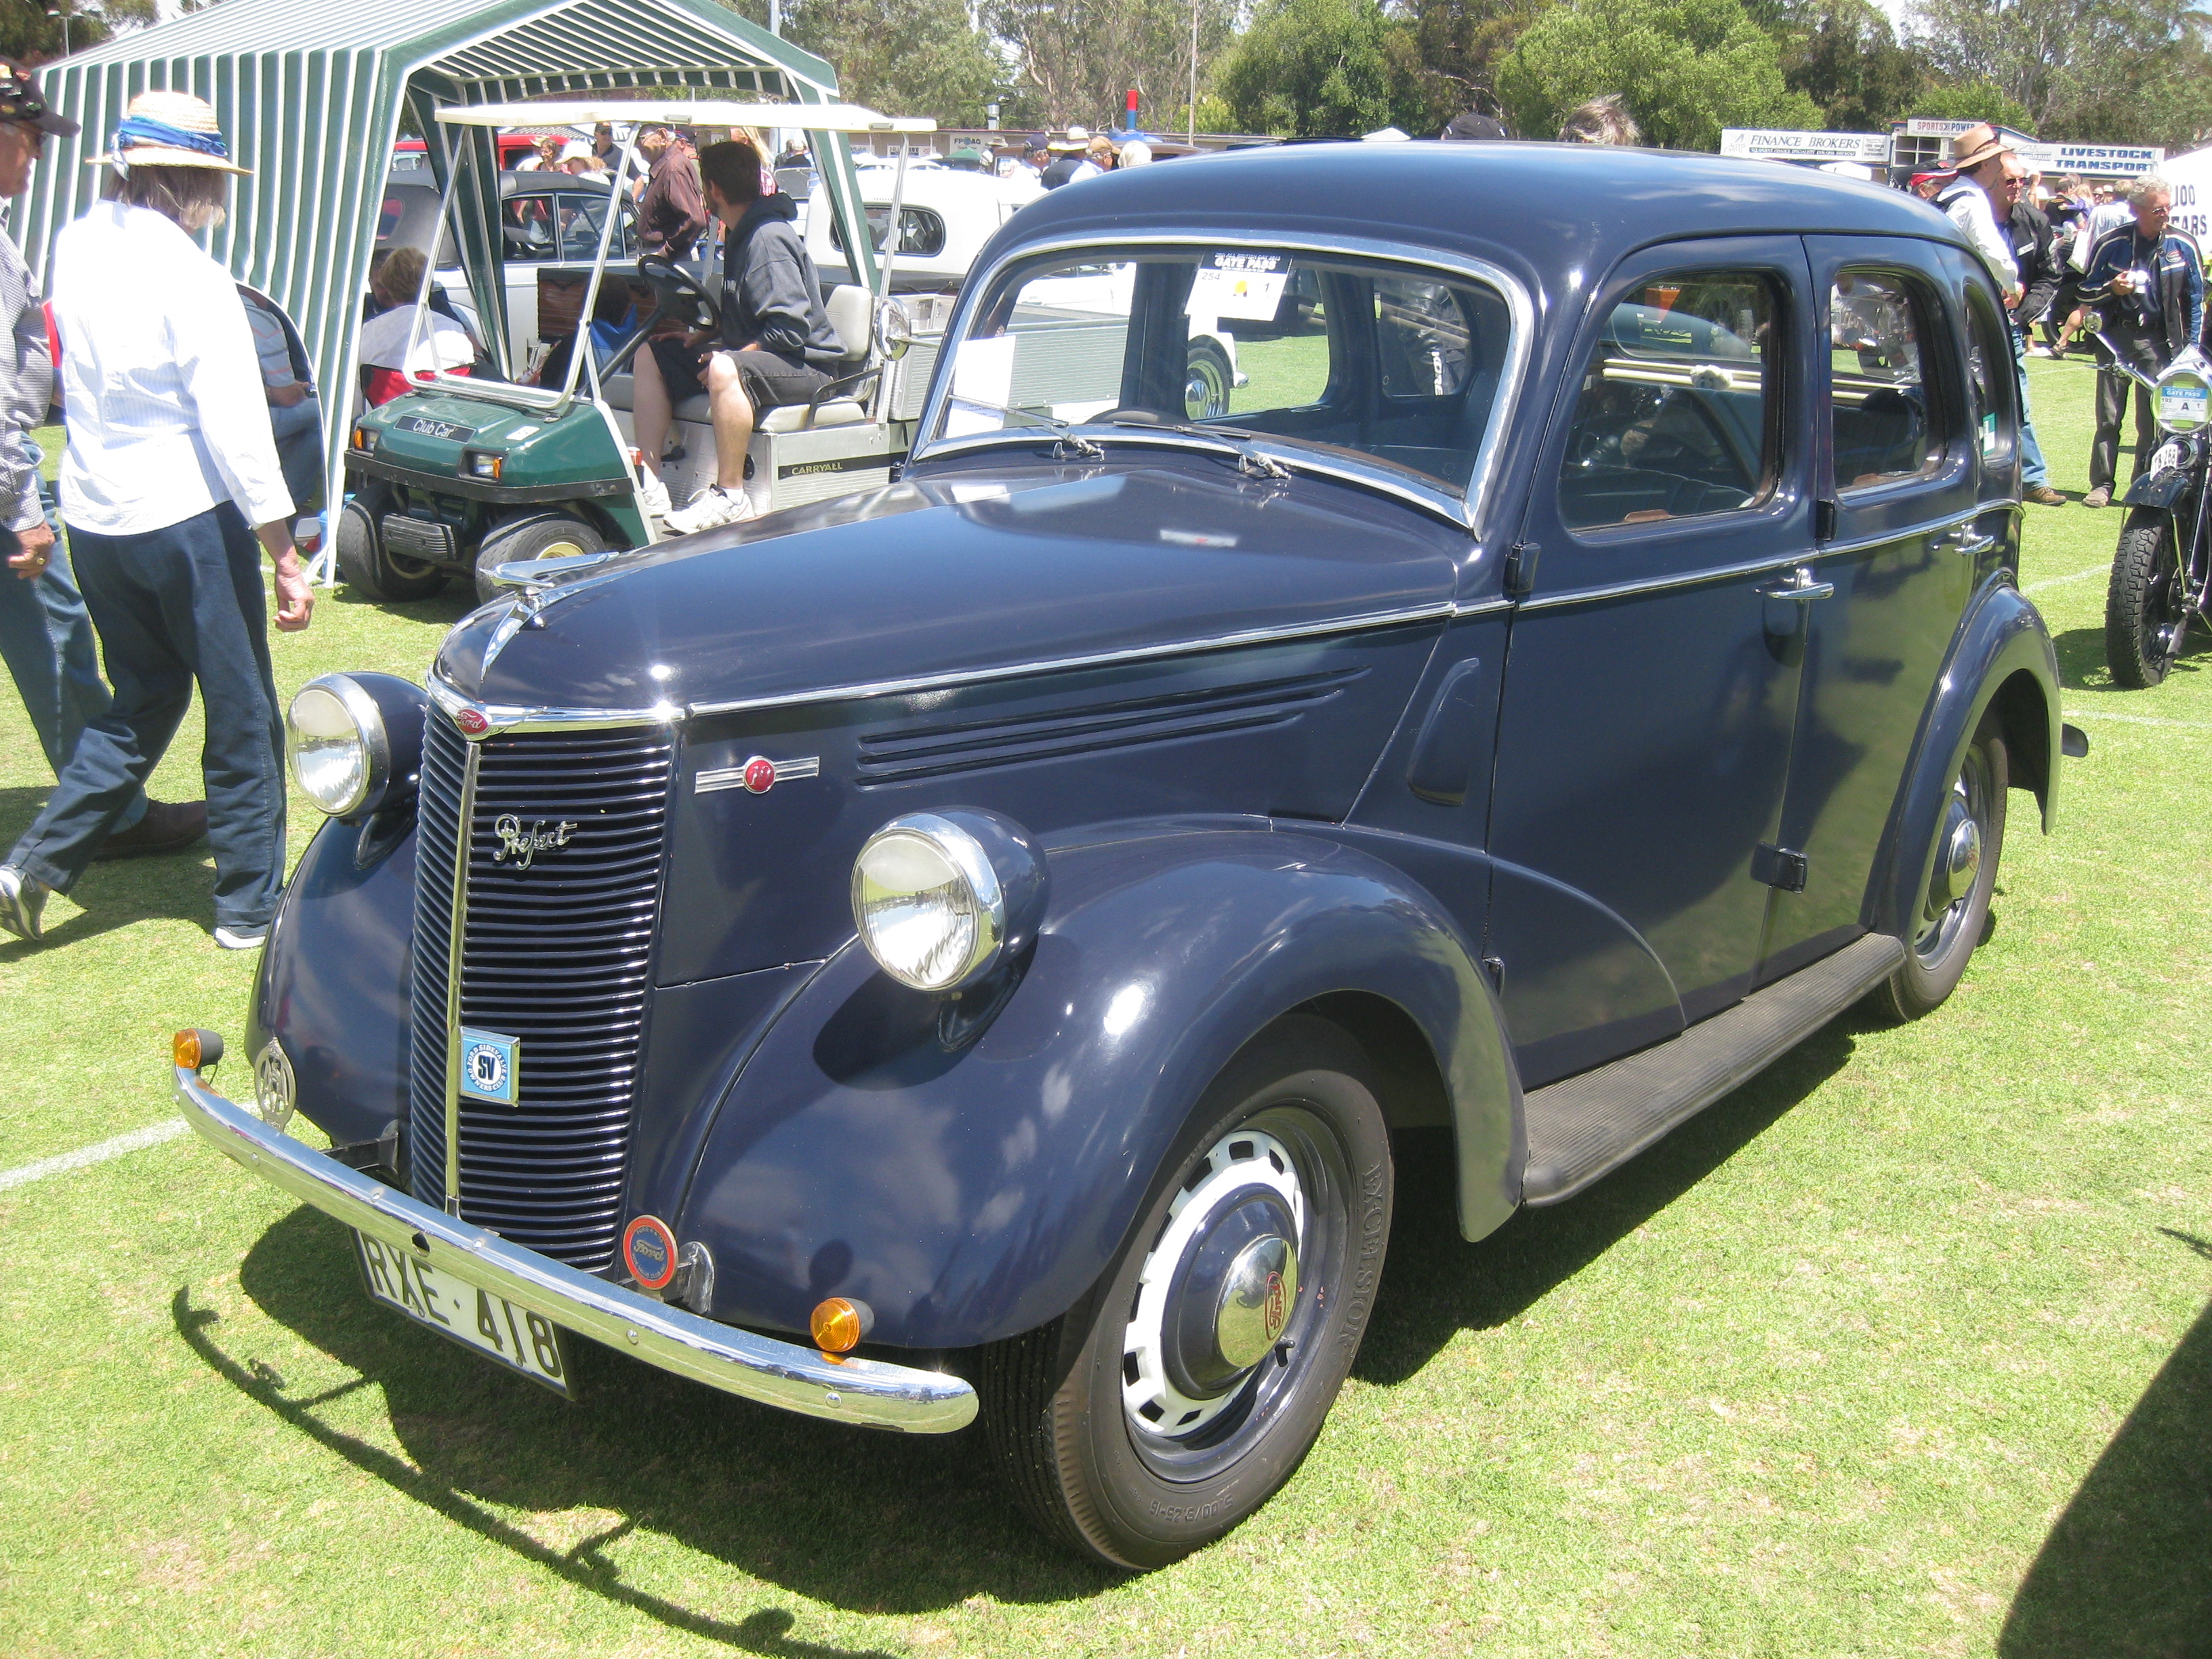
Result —
[{"label": "navy front fender left of the car's grille, under the far headlight", "polygon": [[285,883],[246,1013],[252,1064],[283,1044],[299,1113],[345,1146],[407,1115],[414,814],[330,818]]}]

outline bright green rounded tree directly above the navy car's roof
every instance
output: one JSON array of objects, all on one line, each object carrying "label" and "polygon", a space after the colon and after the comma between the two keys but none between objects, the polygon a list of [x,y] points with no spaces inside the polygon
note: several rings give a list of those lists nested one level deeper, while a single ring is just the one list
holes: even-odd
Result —
[{"label": "bright green rounded tree directly above the navy car's roof", "polygon": [[1714,150],[1723,126],[1820,122],[1743,0],[1573,0],[1498,64],[1498,97],[1526,137],[1551,137],[1601,93],[1626,97],[1646,144],[1674,150]]}]

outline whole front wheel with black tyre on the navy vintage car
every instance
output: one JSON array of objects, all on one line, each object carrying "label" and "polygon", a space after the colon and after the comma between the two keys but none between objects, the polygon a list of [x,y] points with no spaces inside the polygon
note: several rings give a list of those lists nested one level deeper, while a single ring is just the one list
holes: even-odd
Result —
[{"label": "whole front wheel with black tyre on the navy vintage car", "polygon": [[1051,1537],[1119,1568],[1210,1544],[1290,1480],[1367,1329],[1391,1155],[1352,1037],[1292,1015],[1206,1091],[1106,1276],[993,1343],[993,1462]]}]

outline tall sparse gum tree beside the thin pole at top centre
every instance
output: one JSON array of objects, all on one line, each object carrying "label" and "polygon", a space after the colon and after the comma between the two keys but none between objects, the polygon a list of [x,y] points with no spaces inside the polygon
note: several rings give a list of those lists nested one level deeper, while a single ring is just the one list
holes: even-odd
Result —
[{"label": "tall sparse gum tree beside the thin pole at top centre", "polygon": [[[1203,88],[1234,33],[1237,0],[1194,2]],[[984,0],[982,27],[1013,55],[1006,124],[1108,126],[1135,86],[1144,95],[1144,126],[1181,126],[1190,100],[1190,18],[1192,0]]]}]

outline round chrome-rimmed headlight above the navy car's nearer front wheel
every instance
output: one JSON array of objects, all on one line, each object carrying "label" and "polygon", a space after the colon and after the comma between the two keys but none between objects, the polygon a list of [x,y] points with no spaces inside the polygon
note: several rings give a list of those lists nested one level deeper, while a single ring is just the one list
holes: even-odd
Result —
[{"label": "round chrome-rimmed headlight above the navy car's nearer front wheel", "polygon": [[1044,909],[1044,860],[989,812],[911,812],[852,865],[852,918],[876,964],[916,991],[958,991],[1020,951]]}]

